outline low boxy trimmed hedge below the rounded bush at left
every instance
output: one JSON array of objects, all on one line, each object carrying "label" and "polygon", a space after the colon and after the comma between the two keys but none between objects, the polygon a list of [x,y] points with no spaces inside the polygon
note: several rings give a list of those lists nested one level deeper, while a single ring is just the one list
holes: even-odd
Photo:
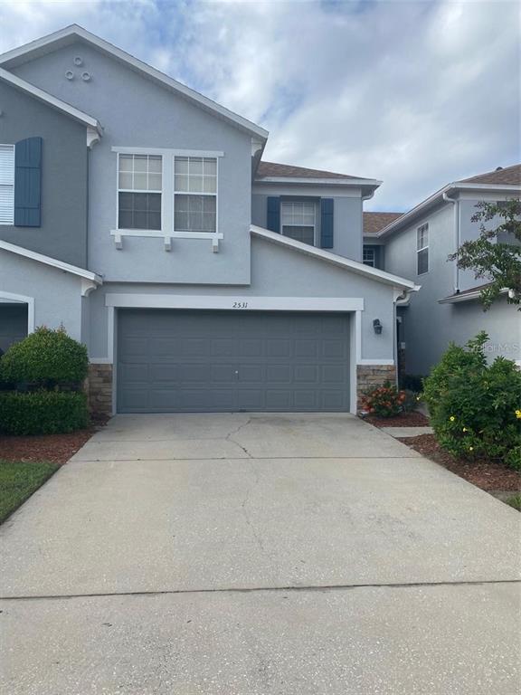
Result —
[{"label": "low boxy trimmed hedge below the rounded bush at left", "polygon": [[87,395],[74,391],[0,393],[0,432],[53,434],[72,432],[89,424]]}]

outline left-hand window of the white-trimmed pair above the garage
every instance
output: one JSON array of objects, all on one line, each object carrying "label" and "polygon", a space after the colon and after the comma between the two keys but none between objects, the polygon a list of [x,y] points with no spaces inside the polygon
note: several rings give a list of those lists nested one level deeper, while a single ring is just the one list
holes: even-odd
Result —
[{"label": "left-hand window of the white-trimmed pair above the garage", "polygon": [[118,156],[118,229],[161,229],[163,159]]}]

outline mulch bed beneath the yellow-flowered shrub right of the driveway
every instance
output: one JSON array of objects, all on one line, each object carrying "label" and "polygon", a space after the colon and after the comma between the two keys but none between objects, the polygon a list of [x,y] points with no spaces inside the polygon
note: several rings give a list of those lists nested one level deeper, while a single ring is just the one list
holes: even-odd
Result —
[{"label": "mulch bed beneath the yellow-flowered shrub right of the driveway", "polygon": [[440,449],[433,434],[420,434],[418,437],[399,437],[398,439],[432,461],[440,463],[449,471],[456,473],[460,478],[464,478],[481,488],[481,490],[518,492],[521,489],[521,474],[517,471],[512,471],[501,463],[486,459],[477,461],[455,459],[450,453]]}]

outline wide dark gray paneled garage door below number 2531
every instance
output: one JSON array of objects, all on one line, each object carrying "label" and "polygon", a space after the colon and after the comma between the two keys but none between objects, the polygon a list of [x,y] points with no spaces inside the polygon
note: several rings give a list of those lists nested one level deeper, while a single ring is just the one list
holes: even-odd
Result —
[{"label": "wide dark gray paneled garage door below number 2531", "polygon": [[120,309],[118,412],[347,411],[346,314]]}]

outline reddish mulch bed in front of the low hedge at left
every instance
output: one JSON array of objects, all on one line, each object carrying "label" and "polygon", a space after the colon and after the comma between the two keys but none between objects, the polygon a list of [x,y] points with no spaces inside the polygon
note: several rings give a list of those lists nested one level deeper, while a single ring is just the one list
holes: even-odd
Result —
[{"label": "reddish mulch bed in front of the low hedge at left", "polygon": [[0,459],[65,463],[73,453],[81,449],[96,430],[96,427],[90,427],[67,434],[0,435]]}]

